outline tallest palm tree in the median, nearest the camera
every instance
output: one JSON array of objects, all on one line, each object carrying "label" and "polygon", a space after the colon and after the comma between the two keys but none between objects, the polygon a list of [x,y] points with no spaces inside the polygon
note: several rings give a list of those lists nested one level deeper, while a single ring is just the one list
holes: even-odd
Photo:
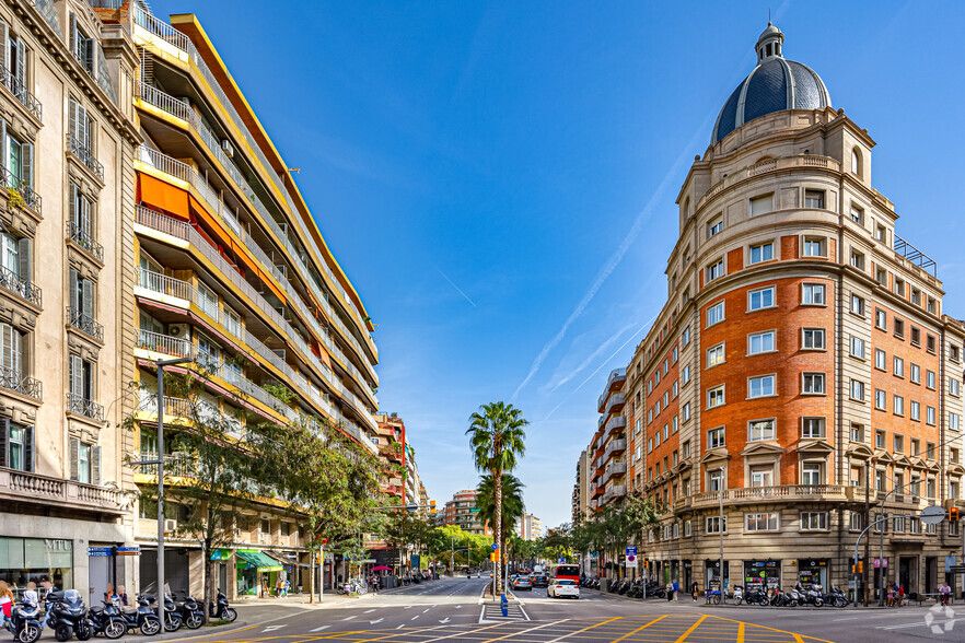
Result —
[{"label": "tallest palm tree in the median, nearest the camera", "polygon": [[[477,470],[488,472],[495,481],[497,502],[492,529],[496,542],[500,541],[502,535],[502,474],[515,469],[516,458],[526,453],[523,444],[526,439],[523,426],[526,424],[528,422],[520,409],[502,401],[482,405],[479,411],[469,416],[466,435],[469,436],[474,464]],[[493,596],[501,591],[501,563],[497,562],[492,574]]]}]

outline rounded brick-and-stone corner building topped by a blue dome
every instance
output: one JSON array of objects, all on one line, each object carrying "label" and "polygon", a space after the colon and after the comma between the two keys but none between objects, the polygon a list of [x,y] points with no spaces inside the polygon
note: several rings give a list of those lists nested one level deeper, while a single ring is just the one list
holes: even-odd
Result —
[{"label": "rounded brick-and-stone corner building topped by a blue dome", "polygon": [[[869,521],[965,504],[965,327],[872,187],[874,141],[783,40],[768,24],[690,167],[666,304],[607,381],[588,449],[586,512],[652,499],[647,573],[701,592],[721,530],[730,587],[847,588]],[[958,529],[890,522],[885,581],[961,593]],[[865,539],[873,596],[880,533]]]}]

